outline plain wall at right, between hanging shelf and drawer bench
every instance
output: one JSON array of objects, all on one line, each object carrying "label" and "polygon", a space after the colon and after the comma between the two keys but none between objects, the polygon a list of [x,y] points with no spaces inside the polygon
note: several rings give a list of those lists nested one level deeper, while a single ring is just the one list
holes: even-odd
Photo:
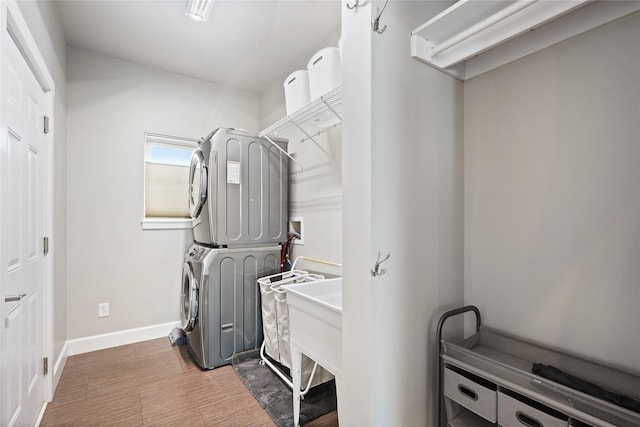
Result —
[{"label": "plain wall at right, between hanging shelf and drawer bench", "polygon": [[465,302],[640,371],[640,14],[467,81]]}]

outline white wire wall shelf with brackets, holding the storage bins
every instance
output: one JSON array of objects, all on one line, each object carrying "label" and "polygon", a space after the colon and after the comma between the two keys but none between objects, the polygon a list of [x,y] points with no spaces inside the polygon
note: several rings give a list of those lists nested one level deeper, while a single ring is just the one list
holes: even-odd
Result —
[{"label": "white wire wall shelf with brackets, holding the storage bins", "polygon": [[[260,132],[260,136],[282,137],[290,142],[311,141],[327,157],[333,159],[333,155],[322,147],[314,138],[323,134],[342,121],[342,86],[338,86],[321,96],[295,113],[278,120],[268,128]],[[287,156],[302,169],[303,166],[291,155]]]}]

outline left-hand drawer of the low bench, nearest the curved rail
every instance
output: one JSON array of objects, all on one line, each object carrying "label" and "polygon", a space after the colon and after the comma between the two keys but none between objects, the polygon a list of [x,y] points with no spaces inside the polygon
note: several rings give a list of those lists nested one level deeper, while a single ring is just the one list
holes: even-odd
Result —
[{"label": "left-hand drawer of the low bench, nearest the curved rail", "polygon": [[443,385],[446,397],[492,423],[496,422],[497,395],[495,385],[452,366],[447,366],[444,370]]}]

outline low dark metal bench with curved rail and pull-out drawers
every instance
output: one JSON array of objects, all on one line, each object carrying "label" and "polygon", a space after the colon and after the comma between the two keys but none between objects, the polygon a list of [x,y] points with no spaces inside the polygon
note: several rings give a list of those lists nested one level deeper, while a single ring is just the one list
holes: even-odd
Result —
[{"label": "low dark metal bench with curved rail and pull-out drawers", "polygon": [[[474,335],[455,343],[442,339],[448,318],[471,311],[476,314]],[[636,372],[481,326],[475,306],[445,312],[436,340],[439,426],[445,414],[448,427],[640,426]],[[536,365],[560,374],[543,375]]]}]

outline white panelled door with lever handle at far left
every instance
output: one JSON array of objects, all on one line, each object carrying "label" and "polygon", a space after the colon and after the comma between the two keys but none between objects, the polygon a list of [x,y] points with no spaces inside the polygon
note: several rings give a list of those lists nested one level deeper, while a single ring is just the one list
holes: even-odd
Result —
[{"label": "white panelled door with lever handle at far left", "polygon": [[26,426],[44,401],[45,96],[12,38],[2,40],[0,425]]}]

